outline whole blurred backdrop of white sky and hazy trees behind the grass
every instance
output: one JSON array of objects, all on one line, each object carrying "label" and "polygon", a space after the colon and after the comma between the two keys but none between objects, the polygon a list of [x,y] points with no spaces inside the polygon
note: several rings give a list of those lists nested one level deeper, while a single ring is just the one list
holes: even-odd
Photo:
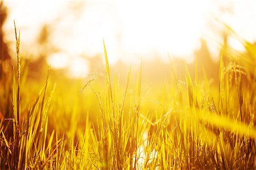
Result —
[{"label": "whole blurred backdrop of white sky and hazy trees behind the grass", "polygon": [[15,59],[15,19],[21,32],[21,55],[29,59],[34,78],[46,74],[43,67],[47,65],[69,78],[84,79],[89,73],[101,72],[103,39],[110,65],[119,73],[127,72],[130,64],[137,68],[142,61],[145,76],[158,78],[169,73],[169,58],[179,69],[184,60],[193,65],[197,57],[199,67],[214,78],[224,46],[244,53],[240,39],[251,44],[256,40],[255,1],[0,4],[1,63]]}]

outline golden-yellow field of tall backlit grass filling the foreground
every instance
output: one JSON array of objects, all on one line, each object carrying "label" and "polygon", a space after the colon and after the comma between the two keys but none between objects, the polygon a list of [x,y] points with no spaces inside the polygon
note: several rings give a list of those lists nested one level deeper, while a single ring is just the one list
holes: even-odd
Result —
[{"label": "golden-yellow field of tall backlit grass filling the foreground", "polygon": [[[22,74],[29,70],[22,69],[16,27],[15,35],[17,66],[0,86],[1,169],[256,168],[255,46],[249,42],[241,40],[247,53],[238,59],[228,56],[225,63],[222,53],[218,87],[206,74],[197,76],[197,65],[195,80],[186,64],[185,81],[177,79],[172,63],[171,83],[159,83],[160,91],[143,84],[142,65],[136,83],[131,67],[122,83],[104,42],[104,73],[82,86],[52,83],[48,71],[35,96],[39,84]],[[146,99],[150,92],[155,100]]]}]

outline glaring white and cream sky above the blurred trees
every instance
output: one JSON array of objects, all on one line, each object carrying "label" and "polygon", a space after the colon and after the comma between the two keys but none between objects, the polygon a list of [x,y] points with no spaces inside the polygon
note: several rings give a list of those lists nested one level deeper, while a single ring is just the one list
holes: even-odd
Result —
[{"label": "glaring white and cream sky above the blurred trees", "polygon": [[[61,50],[48,56],[53,67],[69,67],[73,76],[88,73],[81,56],[103,54],[105,40],[111,64],[160,57],[193,60],[200,38],[212,56],[221,43],[218,18],[246,40],[256,40],[256,1],[5,1],[9,8],[6,40],[14,40],[13,19],[21,31],[22,48],[36,54],[42,24],[53,24],[50,44]],[[230,45],[243,50],[236,39]],[[34,46],[35,48],[31,48]]]}]

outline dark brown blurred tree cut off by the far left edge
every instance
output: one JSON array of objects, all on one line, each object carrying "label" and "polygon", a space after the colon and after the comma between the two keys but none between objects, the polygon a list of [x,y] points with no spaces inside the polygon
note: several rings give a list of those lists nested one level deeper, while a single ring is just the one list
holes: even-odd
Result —
[{"label": "dark brown blurred tree cut off by the far left edge", "polygon": [[0,1],[0,79],[5,76],[5,73],[10,69],[10,54],[8,46],[3,40],[3,24],[7,18],[7,8],[3,5],[3,1]]}]

